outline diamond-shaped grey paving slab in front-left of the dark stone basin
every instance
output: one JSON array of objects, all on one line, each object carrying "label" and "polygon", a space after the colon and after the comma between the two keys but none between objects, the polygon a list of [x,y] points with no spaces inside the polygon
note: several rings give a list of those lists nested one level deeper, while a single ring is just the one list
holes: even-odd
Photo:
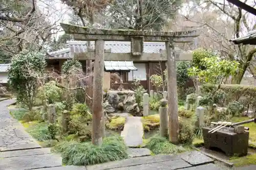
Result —
[{"label": "diamond-shaped grey paving slab in front-left of the dark stone basin", "polygon": [[185,152],[179,156],[191,165],[200,165],[214,162],[213,159],[198,151]]}]

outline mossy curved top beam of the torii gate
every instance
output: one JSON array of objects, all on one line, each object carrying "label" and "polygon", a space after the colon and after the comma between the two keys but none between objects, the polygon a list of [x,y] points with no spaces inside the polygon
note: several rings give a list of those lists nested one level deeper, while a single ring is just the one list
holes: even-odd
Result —
[{"label": "mossy curved top beam of the torii gate", "polygon": [[153,32],[136,30],[106,30],[91,29],[87,27],[60,23],[66,34],[73,34],[76,40],[95,41],[131,41],[133,37],[143,37],[143,41],[167,42],[173,39],[174,42],[191,42],[194,37],[200,35],[201,30],[178,31],[178,32]]}]

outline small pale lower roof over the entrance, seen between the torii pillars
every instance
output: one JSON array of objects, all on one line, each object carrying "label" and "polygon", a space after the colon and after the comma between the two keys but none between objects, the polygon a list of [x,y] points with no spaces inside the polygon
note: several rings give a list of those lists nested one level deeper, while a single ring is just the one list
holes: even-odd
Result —
[{"label": "small pale lower roof over the entrance, seen between the torii pillars", "polygon": [[112,70],[137,70],[133,61],[104,61],[106,71]]}]

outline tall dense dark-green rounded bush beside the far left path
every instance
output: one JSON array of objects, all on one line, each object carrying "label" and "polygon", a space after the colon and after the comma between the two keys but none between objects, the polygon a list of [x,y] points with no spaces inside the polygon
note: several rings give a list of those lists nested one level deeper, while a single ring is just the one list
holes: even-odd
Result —
[{"label": "tall dense dark-green rounded bush beside the far left path", "polygon": [[38,77],[44,74],[46,61],[44,54],[36,51],[23,51],[14,56],[8,71],[10,87],[17,93],[17,102],[33,107],[38,88]]}]

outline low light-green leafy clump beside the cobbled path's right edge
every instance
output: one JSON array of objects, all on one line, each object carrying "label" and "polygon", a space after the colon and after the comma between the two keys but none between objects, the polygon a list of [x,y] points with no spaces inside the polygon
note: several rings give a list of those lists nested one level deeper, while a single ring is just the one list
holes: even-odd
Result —
[{"label": "low light-green leafy clump beside the cobbled path's right edge", "polygon": [[55,139],[57,128],[55,125],[47,125],[46,123],[40,123],[35,126],[31,126],[27,129],[28,133],[37,141],[46,141]]}]

